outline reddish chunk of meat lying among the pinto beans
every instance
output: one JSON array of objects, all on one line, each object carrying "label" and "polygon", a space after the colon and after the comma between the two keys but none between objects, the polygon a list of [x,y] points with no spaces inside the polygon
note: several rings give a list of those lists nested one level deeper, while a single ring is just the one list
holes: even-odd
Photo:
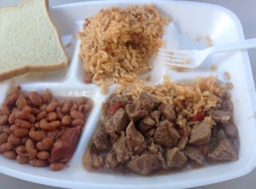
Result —
[{"label": "reddish chunk of meat lying among the pinto beans", "polygon": [[56,140],[50,151],[50,163],[66,163],[73,156],[79,142],[81,127],[64,130],[61,138]]}]

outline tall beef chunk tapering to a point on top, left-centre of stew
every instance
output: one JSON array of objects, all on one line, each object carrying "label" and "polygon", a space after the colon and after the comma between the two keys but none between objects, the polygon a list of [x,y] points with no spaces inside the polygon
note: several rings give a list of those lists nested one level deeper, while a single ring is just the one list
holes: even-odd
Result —
[{"label": "tall beef chunk tapering to a point on top, left-centre of stew", "polygon": [[143,152],[145,148],[145,140],[143,135],[137,131],[134,126],[133,121],[131,121],[126,128],[126,146],[129,150],[131,156],[137,155],[140,152]]}]

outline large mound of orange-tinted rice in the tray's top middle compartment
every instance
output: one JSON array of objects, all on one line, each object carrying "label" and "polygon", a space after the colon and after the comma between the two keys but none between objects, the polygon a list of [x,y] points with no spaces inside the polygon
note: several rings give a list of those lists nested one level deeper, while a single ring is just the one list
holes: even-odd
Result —
[{"label": "large mound of orange-tinted rice in the tray's top middle compartment", "polygon": [[106,93],[111,83],[133,83],[150,71],[150,55],[162,45],[169,20],[153,4],[102,9],[85,19],[79,57],[92,82]]}]

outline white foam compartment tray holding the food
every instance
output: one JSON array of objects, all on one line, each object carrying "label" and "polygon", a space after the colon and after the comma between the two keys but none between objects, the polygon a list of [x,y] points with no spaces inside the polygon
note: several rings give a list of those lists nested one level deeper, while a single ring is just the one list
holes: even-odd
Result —
[{"label": "white foam compartment tray holding the food", "polygon": [[[244,39],[241,23],[236,15],[222,7],[182,1],[153,0],[150,2],[156,4],[163,14],[169,14],[173,18],[172,24],[166,27],[164,36],[167,48],[203,49],[207,47],[203,39],[205,36],[211,37],[213,44]],[[49,9],[55,26],[61,32],[62,42],[64,44],[71,43],[71,46],[66,49],[70,65],[65,70],[43,74],[26,74],[1,83],[0,102],[3,102],[7,90],[11,86],[20,85],[24,91],[38,90],[43,92],[44,89],[48,88],[55,96],[59,97],[88,96],[94,100],[95,106],[85,125],[76,152],[66,169],[53,172],[49,168],[21,165],[0,156],[0,171],[3,174],[21,180],[67,188],[184,188],[230,180],[246,175],[255,167],[254,112],[256,112],[256,98],[253,76],[247,51],[236,51],[212,55],[202,66],[186,72],[171,71],[168,67],[158,63],[159,65],[155,66],[152,72],[152,82],[160,83],[164,74],[168,74],[174,81],[190,81],[195,77],[217,75],[219,80],[224,82],[224,72],[229,72],[230,82],[234,84],[234,89],[230,91],[235,108],[234,119],[241,142],[237,162],[221,163],[201,169],[150,177],[91,173],[84,169],[82,157],[96,127],[102,101],[106,100],[108,95],[102,95],[100,89],[92,83],[83,83],[84,72],[82,63],[77,56],[79,54],[79,40],[74,36],[81,29],[84,18],[96,14],[100,9],[143,3],[148,3],[148,1],[96,1],[66,4]],[[201,37],[201,40],[195,41],[195,37]],[[210,69],[212,64],[217,66],[216,71]]]}]

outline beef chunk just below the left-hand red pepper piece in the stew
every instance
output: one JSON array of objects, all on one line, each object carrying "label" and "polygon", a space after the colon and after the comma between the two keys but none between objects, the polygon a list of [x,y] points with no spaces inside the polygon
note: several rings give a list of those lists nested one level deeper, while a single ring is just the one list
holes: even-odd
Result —
[{"label": "beef chunk just below the left-hand red pepper piece in the stew", "polygon": [[117,135],[124,131],[129,123],[129,120],[125,114],[123,108],[120,108],[113,117],[108,118],[106,122],[106,132],[113,136],[113,138],[117,138]]}]

